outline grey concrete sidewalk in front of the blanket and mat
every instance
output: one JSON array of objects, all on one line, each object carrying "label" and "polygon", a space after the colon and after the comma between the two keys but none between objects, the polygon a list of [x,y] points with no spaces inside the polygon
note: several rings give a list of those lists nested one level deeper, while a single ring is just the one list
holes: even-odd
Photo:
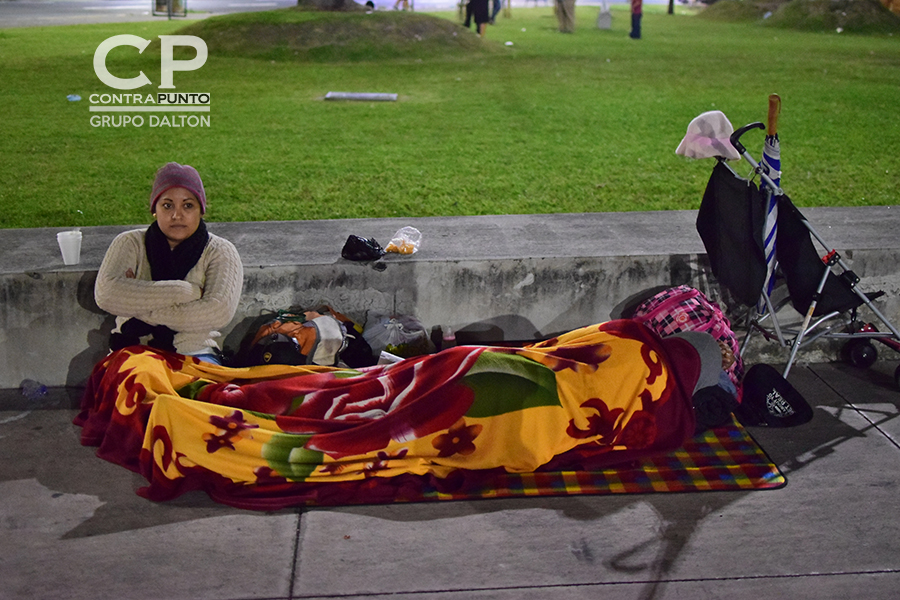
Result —
[{"label": "grey concrete sidewalk in front of the blanket and mat", "polygon": [[0,598],[896,598],[895,362],[795,367],[815,408],[753,429],[780,490],[253,513],[135,495],[94,456],[75,390],[0,392]]}]

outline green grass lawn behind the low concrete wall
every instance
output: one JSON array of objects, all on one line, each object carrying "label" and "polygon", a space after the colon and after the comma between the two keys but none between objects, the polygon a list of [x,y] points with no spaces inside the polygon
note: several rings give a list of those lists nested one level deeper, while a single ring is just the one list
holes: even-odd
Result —
[{"label": "green grass lawn behind the low concrete wall", "polygon": [[[896,202],[900,32],[798,32],[650,7],[636,41],[615,8],[609,31],[596,28],[597,7],[578,9],[573,35],[556,31],[551,8],[516,8],[483,43],[426,39],[357,48],[352,60],[289,44],[246,58],[210,41],[203,68],[175,74],[177,91],[211,94],[211,126],[193,129],[92,127],[88,110],[91,94],[113,91],[93,71],[100,42],[185,22],[0,30],[0,227],[146,222],[153,173],[170,160],[200,170],[216,221],[696,208],[713,165],[675,155],[688,123],[712,109],[735,126],[764,120],[773,92],[783,185],[798,205]],[[117,49],[110,70],[143,70],[154,83],[140,92],[156,93],[155,47]],[[325,102],[328,91],[399,101]],[[744,141],[758,154],[762,134]]]}]

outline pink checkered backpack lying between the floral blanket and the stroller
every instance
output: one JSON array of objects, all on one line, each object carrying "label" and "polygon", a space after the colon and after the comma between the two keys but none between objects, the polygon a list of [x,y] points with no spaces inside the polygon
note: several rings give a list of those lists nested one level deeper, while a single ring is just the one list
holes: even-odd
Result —
[{"label": "pink checkered backpack lying between the floral blanket and the stroller", "polygon": [[703,331],[731,348],[734,363],[725,372],[735,387],[741,389],[744,362],[741,360],[737,336],[731,322],[703,292],[686,285],[666,288],[641,302],[631,317],[662,337],[682,331]]}]

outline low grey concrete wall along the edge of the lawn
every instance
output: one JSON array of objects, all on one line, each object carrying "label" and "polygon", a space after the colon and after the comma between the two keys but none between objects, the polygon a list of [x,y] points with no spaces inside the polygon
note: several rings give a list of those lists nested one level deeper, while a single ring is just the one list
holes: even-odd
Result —
[{"label": "low grey concrete wall along the edge of the lawn", "polygon": [[[887,293],[882,310],[898,320],[900,211],[804,213],[864,289]],[[624,298],[678,284],[701,289],[727,312],[695,219],[696,211],[667,211],[210,223],[235,243],[245,269],[238,314],[222,333],[235,347],[263,311],[329,304],[360,322],[370,313],[414,314],[473,342],[535,339],[608,320]],[[422,232],[422,248],[389,254],[384,270],[340,256],[351,234],[386,245],[406,225]],[[112,328],[93,301],[96,271],[113,237],[132,228],[82,228],[81,262],[73,266],[62,264],[54,239],[63,228],[0,230],[0,388],[26,378],[84,383]]]}]

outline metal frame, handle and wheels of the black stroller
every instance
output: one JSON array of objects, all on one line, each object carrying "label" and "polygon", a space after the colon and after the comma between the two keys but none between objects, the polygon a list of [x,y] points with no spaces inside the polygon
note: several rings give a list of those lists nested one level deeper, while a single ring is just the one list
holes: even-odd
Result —
[{"label": "metal frame, handle and wheels of the black stroller", "polygon": [[[763,123],[751,123],[731,134],[730,141],[744,161],[749,163],[753,168],[753,173],[758,175],[761,181],[766,184],[765,197],[768,204],[772,201],[773,196],[784,196],[784,191],[769,177],[766,168],[757,162],[740,142],[741,136],[747,131],[764,128],[765,125]],[[731,171],[736,178],[743,179],[725,162],[725,159],[717,158],[717,160],[719,164],[724,165]],[[785,199],[787,198],[785,197]],[[900,352],[900,331],[897,330],[897,328],[872,302],[874,298],[881,296],[883,293],[877,292],[870,297],[861,291],[857,287],[859,277],[850,270],[850,267],[844,262],[837,250],[831,248],[813,228],[809,221],[806,220],[799,211],[796,211],[796,209],[795,214],[799,217],[806,231],[809,232],[810,238],[815,240],[815,242],[817,242],[825,251],[824,256],[821,258],[822,273],[819,277],[818,287],[812,295],[812,301],[809,308],[803,315],[802,324],[799,327],[796,327],[780,323],[777,317],[778,311],[791,302],[790,296],[776,304],[773,302],[771,294],[766,289],[766,286],[763,285],[760,291],[760,304],[758,307],[751,306],[748,308],[746,318],[747,333],[741,343],[741,355],[743,356],[749,346],[750,338],[755,331],[759,331],[767,340],[777,340],[781,347],[790,349],[790,355],[783,372],[784,377],[787,377],[790,373],[791,366],[796,361],[798,351],[822,338],[847,340],[848,343],[844,347],[844,353],[851,364],[859,367],[869,367],[877,358],[877,352],[875,351],[874,346],[872,346],[871,340],[879,341],[893,350]],[[781,271],[777,259],[773,268],[776,274]],[[826,282],[831,275],[835,275],[844,286],[857,296],[859,304],[846,310],[830,311],[826,314],[817,316],[814,320],[814,313],[822,299]],[[784,273],[781,273],[781,276],[786,279]],[[760,310],[762,304],[765,305],[764,310]],[[865,305],[872,311],[887,329],[887,332],[878,331],[871,323],[861,324],[857,320],[857,309],[862,305]],[[848,312],[849,315],[847,314]],[[839,317],[842,316],[844,318],[839,319]],[[836,319],[838,319],[839,322],[835,322]],[[769,321],[771,321],[771,323],[769,323]],[[900,367],[898,367],[895,372],[894,378],[900,383]]]}]

